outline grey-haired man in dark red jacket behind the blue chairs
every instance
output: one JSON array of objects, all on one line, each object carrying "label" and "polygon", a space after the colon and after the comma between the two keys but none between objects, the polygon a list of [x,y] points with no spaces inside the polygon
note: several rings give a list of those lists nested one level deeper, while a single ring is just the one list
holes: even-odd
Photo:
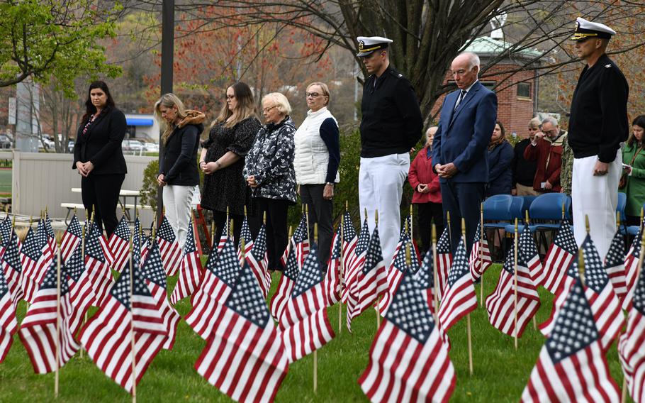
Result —
[{"label": "grey-haired man in dark red jacket behind the blue chairs", "polygon": [[560,130],[558,121],[548,117],[542,121],[542,131],[535,133],[533,141],[524,150],[527,161],[537,161],[533,189],[540,193],[560,192],[562,145],[566,131]]}]

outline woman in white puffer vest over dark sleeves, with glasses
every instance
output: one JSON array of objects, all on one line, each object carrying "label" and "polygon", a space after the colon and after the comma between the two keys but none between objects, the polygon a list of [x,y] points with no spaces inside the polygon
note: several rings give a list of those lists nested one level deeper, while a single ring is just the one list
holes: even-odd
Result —
[{"label": "woman in white puffer vest over dark sleeves, with glasses", "polygon": [[318,223],[318,258],[322,265],[330,257],[334,186],[339,181],[340,133],[338,123],[327,110],[329,88],[322,82],[309,84],[306,92],[309,111],[294,141],[296,183],[303,204],[309,206],[309,231]]}]

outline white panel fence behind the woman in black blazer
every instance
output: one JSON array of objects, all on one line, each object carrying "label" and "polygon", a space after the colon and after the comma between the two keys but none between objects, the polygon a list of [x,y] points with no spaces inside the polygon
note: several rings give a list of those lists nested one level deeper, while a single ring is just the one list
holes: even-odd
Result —
[{"label": "white panel fence behind the woman in black blazer", "polygon": [[[121,189],[139,190],[143,170],[156,159],[125,155],[128,175],[125,175]],[[81,175],[72,170],[72,154],[20,153],[14,150],[0,153],[0,160],[13,160],[11,209],[14,213],[38,216],[47,206],[50,216],[64,217],[67,209],[62,208],[61,203],[82,204],[81,194],[72,192],[72,187],[81,187]],[[79,211],[78,214],[79,219],[83,219],[84,212]],[[117,216],[120,215],[118,211]],[[140,216],[144,223],[152,221],[150,210],[140,211]]]}]

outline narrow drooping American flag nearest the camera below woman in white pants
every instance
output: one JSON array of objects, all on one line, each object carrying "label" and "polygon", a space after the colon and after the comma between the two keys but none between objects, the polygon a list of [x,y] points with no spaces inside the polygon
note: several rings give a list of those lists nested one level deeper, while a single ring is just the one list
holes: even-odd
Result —
[{"label": "narrow drooping American flag nearest the camera below woman in white pants", "polygon": [[179,324],[181,316],[168,303],[166,273],[164,272],[159,248],[155,242],[150,245],[148,257],[145,260],[145,263],[141,266],[141,277],[145,280],[148,290],[150,291],[150,294],[152,294],[152,298],[155,299],[155,302],[157,303],[155,310],[159,312],[163,324],[166,326],[168,336],[166,341],[164,341],[163,347],[166,350],[172,350],[177,331],[177,324]]}]

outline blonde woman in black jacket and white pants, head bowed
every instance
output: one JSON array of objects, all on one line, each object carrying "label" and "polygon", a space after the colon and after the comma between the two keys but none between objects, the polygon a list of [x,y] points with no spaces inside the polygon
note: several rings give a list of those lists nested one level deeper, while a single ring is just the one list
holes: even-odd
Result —
[{"label": "blonde woman in black jacket and white pants, head bowed", "polygon": [[166,216],[184,248],[191,216],[193,189],[199,184],[197,148],[204,114],[186,110],[175,94],[163,94],[155,103],[155,118],[161,126],[164,153],[159,159],[157,183],[163,187]]}]

